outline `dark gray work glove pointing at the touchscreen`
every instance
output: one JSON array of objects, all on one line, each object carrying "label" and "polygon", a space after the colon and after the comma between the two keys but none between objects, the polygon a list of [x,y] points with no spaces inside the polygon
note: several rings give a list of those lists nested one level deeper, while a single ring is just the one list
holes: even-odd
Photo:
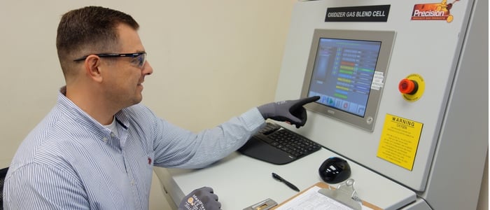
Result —
[{"label": "dark gray work glove pointing at the touchscreen", "polygon": [[296,128],[299,128],[307,120],[306,109],[304,109],[303,105],[318,101],[318,99],[320,97],[314,96],[304,99],[274,102],[259,106],[258,111],[260,111],[264,119],[271,118],[272,120],[286,121],[286,123],[296,125]]}]

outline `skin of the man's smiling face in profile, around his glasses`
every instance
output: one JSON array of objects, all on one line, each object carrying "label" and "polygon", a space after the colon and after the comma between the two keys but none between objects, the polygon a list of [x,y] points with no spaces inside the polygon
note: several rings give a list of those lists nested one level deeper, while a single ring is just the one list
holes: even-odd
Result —
[{"label": "skin of the man's smiling face in profile, around his glasses", "polygon": [[[121,52],[145,52],[137,31],[127,25],[119,25],[119,43]],[[138,104],[143,99],[144,78],[153,72],[150,64],[137,65],[137,58],[119,57],[107,64],[104,71],[104,91],[108,102],[118,109]]]}]

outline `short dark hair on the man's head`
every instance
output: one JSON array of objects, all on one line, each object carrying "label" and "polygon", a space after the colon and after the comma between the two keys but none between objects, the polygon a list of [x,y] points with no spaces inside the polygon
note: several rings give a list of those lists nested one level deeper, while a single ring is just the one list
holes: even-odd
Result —
[{"label": "short dark hair on the man's head", "polygon": [[116,50],[119,38],[116,28],[120,24],[139,29],[131,15],[111,8],[87,6],[65,13],[59,21],[56,36],[58,58],[65,78],[74,64],[73,59]]}]

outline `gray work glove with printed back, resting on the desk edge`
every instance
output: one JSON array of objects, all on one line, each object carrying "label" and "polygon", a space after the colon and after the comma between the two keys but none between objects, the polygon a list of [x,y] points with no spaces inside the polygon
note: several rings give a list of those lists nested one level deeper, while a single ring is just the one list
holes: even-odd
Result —
[{"label": "gray work glove with printed back, resting on the desk edge", "polygon": [[213,193],[213,188],[203,187],[194,190],[184,197],[179,204],[179,210],[216,210],[221,209],[218,195]]}]

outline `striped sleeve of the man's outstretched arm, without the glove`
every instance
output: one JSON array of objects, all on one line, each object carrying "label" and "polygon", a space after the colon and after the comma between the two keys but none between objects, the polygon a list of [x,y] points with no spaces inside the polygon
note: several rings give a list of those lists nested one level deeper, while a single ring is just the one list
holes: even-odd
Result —
[{"label": "striped sleeve of the man's outstretched arm, without the glove", "polygon": [[[257,108],[201,132],[190,132],[156,120],[155,166],[196,169],[230,155],[265,125]],[[147,132],[148,133],[148,132]]]}]

